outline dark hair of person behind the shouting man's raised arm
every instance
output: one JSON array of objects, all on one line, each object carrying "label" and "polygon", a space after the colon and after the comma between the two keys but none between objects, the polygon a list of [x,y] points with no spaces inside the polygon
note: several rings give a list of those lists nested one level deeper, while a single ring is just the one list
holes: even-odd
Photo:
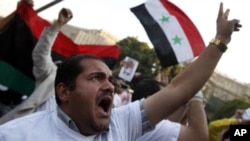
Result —
[{"label": "dark hair of person behind the shouting man's raised arm", "polygon": [[154,79],[143,79],[139,81],[135,88],[132,96],[132,101],[146,98],[156,92],[158,92],[164,84],[154,80]]}]

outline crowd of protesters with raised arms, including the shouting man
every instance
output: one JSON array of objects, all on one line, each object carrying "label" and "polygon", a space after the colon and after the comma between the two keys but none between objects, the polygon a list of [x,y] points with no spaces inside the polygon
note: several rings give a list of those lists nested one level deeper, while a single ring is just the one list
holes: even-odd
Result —
[{"label": "crowd of protesters with raised arms, including the shouting man", "polygon": [[[21,2],[33,6],[32,0]],[[239,20],[228,20],[228,15],[221,3],[215,38],[224,45],[240,28]],[[102,59],[79,54],[54,64],[53,43],[72,17],[63,8],[44,28],[32,51],[35,90],[0,117],[1,141],[224,141],[229,125],[250,123],[249,109],[207,122],[201,88],[224,53],[217,44],[210,43],[171,82],[166,76],[145,78],[131,89],[118,76],[126,61],[110,70]],[[0,28],[6,24],[0,21]]]}]

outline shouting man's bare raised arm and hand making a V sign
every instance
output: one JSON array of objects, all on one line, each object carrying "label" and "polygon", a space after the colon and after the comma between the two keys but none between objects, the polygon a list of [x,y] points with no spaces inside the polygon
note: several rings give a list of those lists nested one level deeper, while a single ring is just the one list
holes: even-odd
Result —
[{"label": "shouting man's bare raised arm and hand making a V sign", "polygon": [[[229,10],[223,12],[220,4],[215,38],[227,45],[233,31],[238,31],[238,20],[228,20]],[[152,126],[176,111],[202,88],[213,73],[223,52],[210,43],[199,58],[175,77],[171,83],[157,94],[144,101],[144,108]]]}]

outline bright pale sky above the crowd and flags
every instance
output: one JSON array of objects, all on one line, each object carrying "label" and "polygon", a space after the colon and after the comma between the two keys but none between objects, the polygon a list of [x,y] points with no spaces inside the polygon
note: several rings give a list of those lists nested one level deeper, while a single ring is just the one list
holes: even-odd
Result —
[{"label": "bright pale sky above the crowd and flags", "polygon": [[[0,0],[0,15],[12,12],[18,0]],[[35,9],[52,0],[34,0]],[[142,25],[130,11],[131,7],[146,0],[64,0],[59,4],[39,13],[47,20],[57,18],[62,7],[70,8],[74,18],[69,22],[82,28],[105,29],[119,39],[128,36],[137,37],[152,47]],[[238,33],[234,33],[229,49],[220,60],[217,71],[244,83],[250,83],[250,33],[249,4],[244,1],[229,0],[170,0],[181,8],[199,29],[206,44],[215,36],[216,18],[219,3],[224,9],[230,8],[229,19],[237,18],[243,25]]]}]

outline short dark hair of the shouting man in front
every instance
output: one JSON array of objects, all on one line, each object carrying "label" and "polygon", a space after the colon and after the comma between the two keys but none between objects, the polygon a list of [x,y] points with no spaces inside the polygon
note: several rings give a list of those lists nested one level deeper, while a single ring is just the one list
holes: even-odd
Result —
[{"label": "short dark hair of the shouting man in front", "polygon": [[[69,90],[75,89],[75,80],[77,76],[84,71],[84,66],[81,66],[80,63],[88,59],[102,61],[100,58],[92,55],[75,55],[65,59],[61,64],[58,65],[55,78],[55,93],[56,93],[56,86],[59,83],[64,83],[65,86],[69,88]],[[56,103],[58,105],[61,103],[57,93],[56,93]]]}]

